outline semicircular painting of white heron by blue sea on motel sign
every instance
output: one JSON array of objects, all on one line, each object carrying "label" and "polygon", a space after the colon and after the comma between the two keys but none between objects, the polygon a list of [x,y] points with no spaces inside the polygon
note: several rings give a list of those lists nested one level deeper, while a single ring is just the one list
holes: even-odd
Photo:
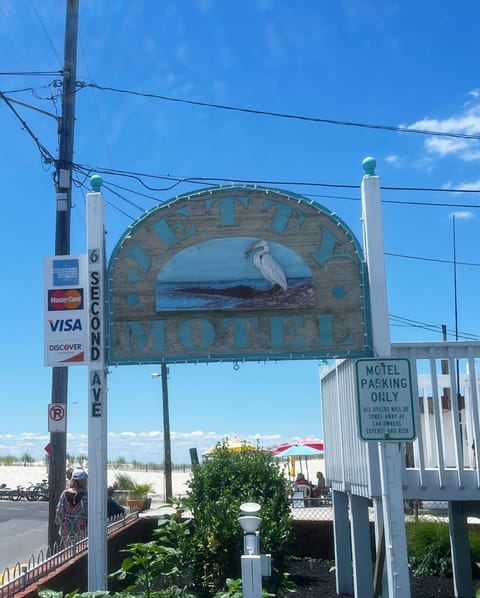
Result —
[{"label": "semicircular painting of white heron by blue sea on motel sign", "polygon": [[157,275],[157,312],[311,307],[310,268],[271,240],[210,239],[179,251]]}]

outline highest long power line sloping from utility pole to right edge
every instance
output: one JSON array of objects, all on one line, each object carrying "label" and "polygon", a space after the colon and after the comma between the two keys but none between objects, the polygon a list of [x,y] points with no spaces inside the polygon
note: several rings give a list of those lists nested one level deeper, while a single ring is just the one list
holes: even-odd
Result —
[{"label": "highest long power line sloping from utility pole to right edge", "polygon": [[285,118],[291,120],[300,120],[305,122],[313,122],[317,124],[329,124],[329,125],[339,125],[344,127],[359,127],[363,129],[376,129],[381,131],[393,131],[396,133],[415,133],[417,135],[432,135],[437,137],[450,137],[454,139],[474,139],[480,140],[480,135],[472,134],[472,133],[447,133],[444,131],[433,131],[429,129],[417,129],[414,127],[398,127],[392,125],[378,125],[372,123],[360,123],[360,122],[353,122],[353,121],[345,121],[345,120],[336,120],[330,118],[319,118],[314,116],[304,116],[300,114],[288,114],[285,112],[272,112],[269,110],[258,110],[255,108],[242,108],[240,106],[229,106],[227,104],[215,104],[212,102],[200,102],[198,100],[188,100],[185,98],[174,98],[170,96],[164,96],[156,93],[149,93],[149,92],[140,92],[135,91],[132,89],[122,89],[118,87],[107,87],[103,85],[98,85],[97,83],[87,83],[86,87],[95,87],[101,91],[111,91],[115,93],[122,93],[134,96],[141,96],[144,98],[152,98],[155,100],[163,100],[167,102],[176,102],[180,104],[189,104],[192,106],[201,106],[203,108],[214,108],[217,110],[229,110],[233,112],[243,112],[245,114],[256,114],[260,116],[273,116],[276,118]]}]

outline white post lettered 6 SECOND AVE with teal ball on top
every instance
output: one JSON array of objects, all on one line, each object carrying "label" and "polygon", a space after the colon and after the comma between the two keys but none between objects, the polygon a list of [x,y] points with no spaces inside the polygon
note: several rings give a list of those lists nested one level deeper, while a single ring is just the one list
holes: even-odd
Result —
[{"label": "white post lettered 6 SECOND AVE with teal ball on top", "polygon": [[107,589],[107,370],[105,367],[105,228],[102,179],[87,193],[88,253],[88,590]]}]

